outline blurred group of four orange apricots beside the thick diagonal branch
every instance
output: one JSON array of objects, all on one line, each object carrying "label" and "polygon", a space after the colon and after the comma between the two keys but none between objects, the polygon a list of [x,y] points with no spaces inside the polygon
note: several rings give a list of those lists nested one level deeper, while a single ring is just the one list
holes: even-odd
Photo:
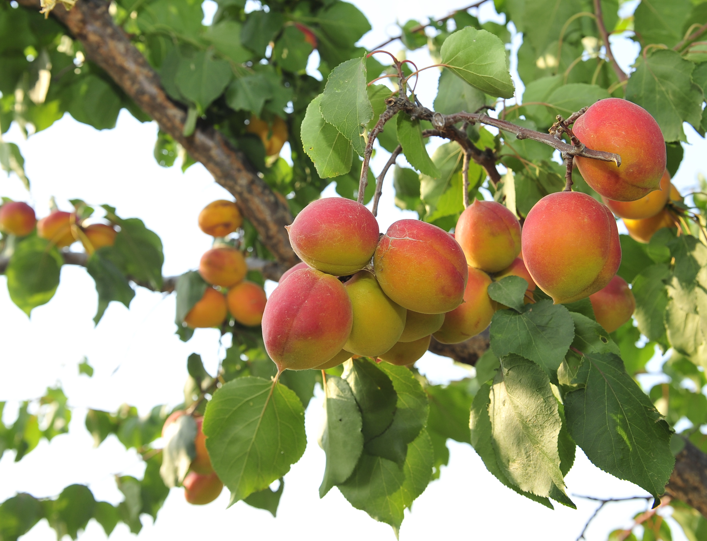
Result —
[{"label": "blurred group of four orange apricots beside the thick diagonal branch", "polygon": [[[201,231],[217,239],[233,233],[241,224],[243,217],[233,201],[214,201],[199,213]],[[229,312],[240,324],[259,325],[267,298],[262,287],[245,280],[247,272],[243,254],[216,241],[199,262],[199,274],[211,286],[185,317],[187,325],[193,329],[220,326]],[[223,295],[214,286],[228,288],[228,293]]]}]

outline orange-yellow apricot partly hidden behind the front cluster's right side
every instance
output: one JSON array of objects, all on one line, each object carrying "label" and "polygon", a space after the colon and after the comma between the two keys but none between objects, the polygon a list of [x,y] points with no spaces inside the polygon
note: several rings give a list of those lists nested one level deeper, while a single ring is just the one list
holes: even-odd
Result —
[{"label": "orange-yellow apricot partly hidden behind the front cluster's right side", "polygon": [[459,343],[476,336],[491,323],[496,302],[489,297],[491,278],[478,268],[469,267],[464,302],[447,312],[444,323],[433,336],[441,343]]}]

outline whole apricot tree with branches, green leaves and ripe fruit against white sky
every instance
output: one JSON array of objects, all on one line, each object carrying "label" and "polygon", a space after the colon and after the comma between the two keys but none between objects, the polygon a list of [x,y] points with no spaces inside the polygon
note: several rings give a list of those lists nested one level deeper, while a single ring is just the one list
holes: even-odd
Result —
[{"label": "whole apricot tree with branches, green leaves and ripe fruit against white sky", "polygon": [[[215,326],[233,344],[215,374],[189,356],[185,402],[169,417],[161,406],[88,412],[97,444],[115,434],[147,464],[144,479],[118,478],[123,503],[78,484],[57,499],[18,494],[0,504],[1,539],[42,518],[73,538],[91,518],[107,535],[118,521],[138,532],[175,486],[195,504],[226,486],[231,503],[274,515],[315,385],[320,496],[337,486],[396,531],[451,438],[550,508],[575,507],[564,478],[578,445],[650,495],[636,524],[665,537],[655,509],[670,503],[686,534],[702,535],[707,196],[686,203],[670,178],[684,123],[700,135],[707,125],[707,4],[643,0],[619,18],[616,0],[495,0],[507,25],[479,23],[469,11],[480,4],[408,21],[395,38],[437,60],[429,108],[414,86],[427,67],[387,43],[356,47],[370,25],[339,0],[248,13],[218,0],[210,25],[191,0],[0,3],[0,132],[17,123],[31,135],[66,112],[110,129],[126,108],[159,125],[160,165],[199,161],[235,198],[199,216],[214,247],[179,277],[163,277],[159,237],[110,205],[103,222],[78,199],[38,222],[25,203],[0,207],[0,270],[26,314],[52,300],[63,265],[79,265],[95,280],[96,323],[146,287],[176,293],[182,340]],[[522,33],[525,84],[513,104],[509,28]],[[624,32],[641,45],[630,77],[609,41]],[[315,48],[322,81],[306,73]],[[445,142],[430,156],[433,137]],[[279,157],[286,141],[291,162]],[[378,176],[376,142],[390,153]],[[0,142],[0,164],[29,188],[16,145]],[[394,166],[396,205],[419,220],[383,234],[375,215]],[[320,199],[332,182],[342,197]],[[69,249],[76,241],[84,251]],[[266,301],[267,279],[280,285]],[[428,348],[474,377],[431,385],[413,365]],[[657,351],[668,382],[646,394],[636,375]],[[40,430],[25,403],[0,423],[2,452],[21,460],[66,431],[62,389],[41,401],[62,422]]]}]

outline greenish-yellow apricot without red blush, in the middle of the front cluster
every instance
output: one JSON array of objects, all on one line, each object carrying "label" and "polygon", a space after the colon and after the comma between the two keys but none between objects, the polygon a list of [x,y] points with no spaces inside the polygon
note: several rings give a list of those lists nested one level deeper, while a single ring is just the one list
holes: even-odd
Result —
[{"label": "greenish-yellow apricot without red blush, in the middle of the front cluster", "polygon": [[400,338],[407,310],[385,295],[368,271],[359,271],[344,283],[354,309],[354,325],[344,349],[363,357],[385,353]]}]

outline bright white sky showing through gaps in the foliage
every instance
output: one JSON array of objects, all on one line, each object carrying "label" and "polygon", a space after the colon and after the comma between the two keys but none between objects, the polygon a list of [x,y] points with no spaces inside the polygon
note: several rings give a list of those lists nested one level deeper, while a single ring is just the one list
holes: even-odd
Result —
[{"label": "bright white sky showing through gaps in the foliage", "polygon": [[[371,47],[385,40],[397,18],[443,16],[458,8],[462,1],[438,0],[358,0],[374,29],[362,44]],[[207,12],[208,13],[208,12]],[[403,15],[404,13],[404,15]],[[495,16],[491,4],[481,9],[482,21]],[[497,17],[497,16],[496,16]],[[496,19],[498,20],[498,19]],[[518,47],[519,40],[514,42]],[[397,52],[393,43],[389,50]],[[624,40],[617,43],[616,54],[627,67],[636,54],[635,47]],[[409,55],[419,67],[431,64],[425,52]],[[431,106],[436,93],[438,72],[423,72],[418,84],[423,104]],[[522,88],[522,86],[519,86]],[[702,168],[706,144],[689,127],[690,142],[686,159],[674,183],[686,192],[694,186]],[[229,194],[220,188],[197,164],[182,174],[178,167],[160,168],[153,158],[157,127],[140,124],[122,112],[115,130],[98,132],[76,123],[67,114],[54,126],[27,141],[16,128],[6,140],[20,145],[32,183],[30,194],[16,177],[0,178],[0,195],[28,200],[37,215],[48,212],[49,197],[57,198],[59,207],[70,208],[68,200],[81,198],[88,203],[109,203],[122,217],[141,217],[147,227],[157,232],[165,247],[165,275],[175,275],[195,268],[201,254],[209,249],[211,237],[197,227],[197,215],[204,205]],[[380,171],[385,151],[373,161]],[[402,161],[401,161],[402,163]],[[703,169],[702,169],[703,170]],[[325,195],[334,195],[327,188]],[[382,231],[404,213],[393,203],[392,174],[387,178],[378,220]],[[182,402],[182,387],[187,376],[186,359],[200,353],[212,373],[223,356],[223,346],[214,329],[199,329],[188,343],[175,336],[173,323],[175,297],[138,289],[130,310],[112,303],[103,320],[93,327],[97,297],[93,280],[85,269],[64,266],[62,282],[49,304],[34,310],[31,321],[15,307],[7,295],[5,278],[0,278],[0,400],[9,402],[4,421],[16,416],[17,402],[42,396],[47,386],[61,382],[74,408],[68,435],[51,443],[42,443],[21,462],[13,462],[13,452],[0,460],[0,501],[16,491],[35,496],[55,496],[72,483],[88,484],[96,499],[111,503],[122,501],[115,486],[115,474],[141,478],[144,465],[133,451],[126,452],[110,436],[100,448],[83,425],[87,408],[115,411],[123,402],[135,405],[141,414],[156,404],[173,406]],[[78,376],[77,365],[83,355],[95,368],[92,379]],[[654,363],[655,364],[655,363]],[[660,362],[658,362],[660,365]],[[463,377],[466,372],[449,359],[428,353],[419,362],[433,382]],[[655,378],[654,378],[655,380]],[[336,537],[337,541],[361,538],[393,540],[389,526],[376,523],[363,511],[352,508],[333,489],[320,501],[317,487],[324,471],[325,455],[317,446],[317,432],[322,409],[321,393],[312,399],[306,418],[308,447],[305,455],[286,476],[278,518],[267,511],[250,508],[243,502],[226,509],[227,491],[208,506],[189,506],[181,489],[173,489],[153,525],[143,517],[140,540],[185,539],[199,535],[305,540],[312,537]],[[450,465],[441,479],[428,486],[416,500],[414,512],[407,514],[400,538],[404,541],[428,540],[441,536],[458,539],[574,540],[593,513],[596,505],[574,498],[578,511],[557,506],[549,511],[543,506],[506,489],[486,471],[469,445],[450,442]],[[601,472],[578,450],[575,467],[566,478],[568,494],[621,497],[643,494],[641,489]],[[631,524],[631,516],[643,511],[645,503],[616,503],[604,508],[588,531],[588,540],[604,540],[610,530]],[[344,528],[341,526],[345,525]],[[502,532],[502,533],[501,533]],[[53,538],[42,521],[24,540]],[[91,521],[83,541],[103,540],[100,525]],[[134,536],[120,524],[112,540],[130,540]],[[682,535],[676,539],[684,539]]]}]

